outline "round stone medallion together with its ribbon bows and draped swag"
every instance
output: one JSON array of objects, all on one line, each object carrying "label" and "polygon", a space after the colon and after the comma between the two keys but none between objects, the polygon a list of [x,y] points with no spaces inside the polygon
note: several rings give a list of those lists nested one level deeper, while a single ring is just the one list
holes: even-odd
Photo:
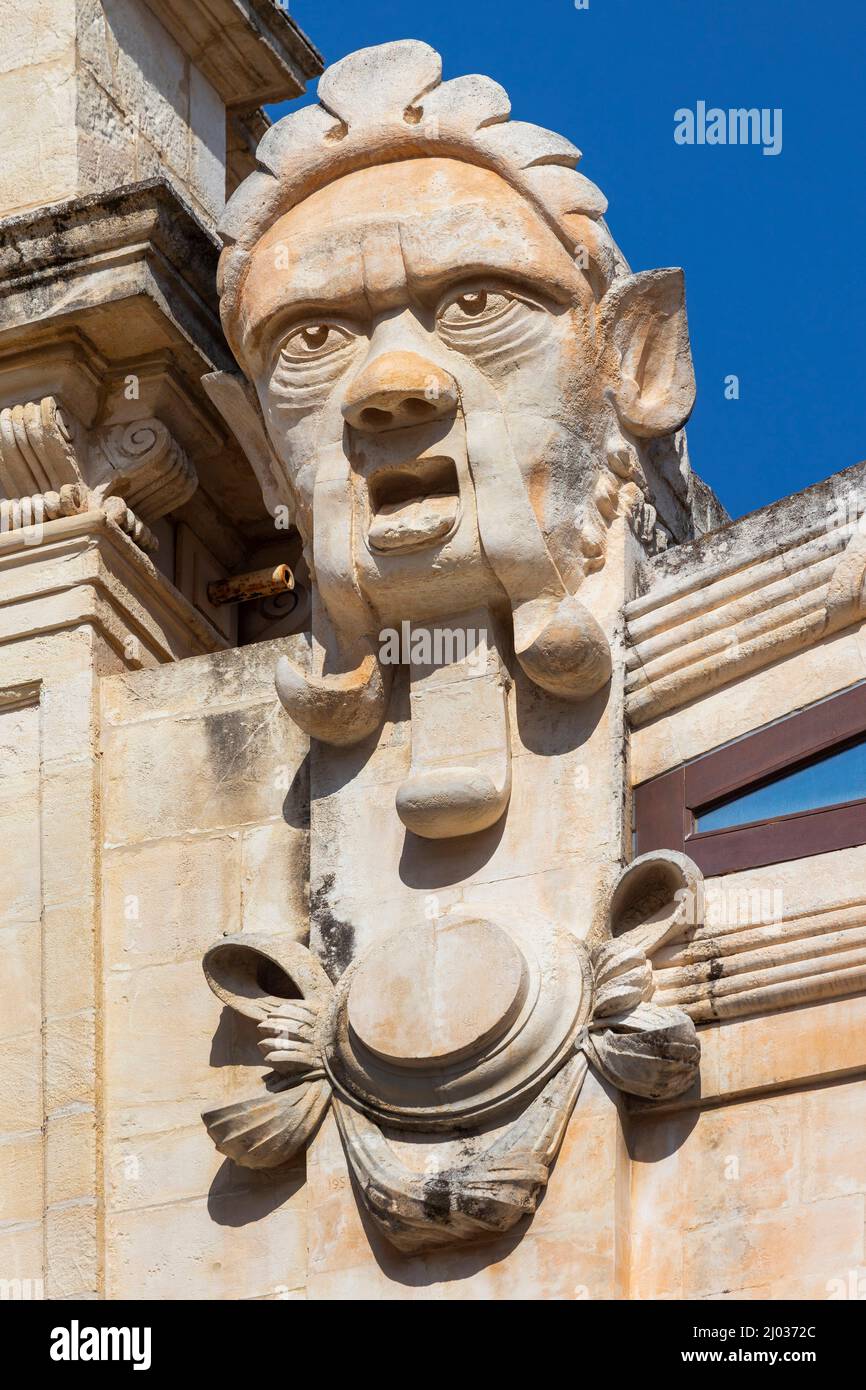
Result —
[{"label": "round stone medallion together with its ribbon bows and draped swag", "polygon": [[701,884],[684,855],[645,855],[594,949],[564,924],[459,908],[377,941],[336,984],[296,941],[222,938],[207,983],[256,1020],[272,1072],[264,1094],[203,1115],[211,1140],[278,1168],[332,1105],[359,1197],[398,1250],[509,1230],[535,1211],[589,1068],[644,1099],[695,1081],[695,1026],[656,1002],[652,959],[695,929]]}]

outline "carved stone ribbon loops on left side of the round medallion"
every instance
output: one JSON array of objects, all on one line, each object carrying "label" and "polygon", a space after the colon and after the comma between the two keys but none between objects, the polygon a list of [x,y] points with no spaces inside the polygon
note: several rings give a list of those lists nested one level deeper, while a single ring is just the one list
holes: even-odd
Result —
[{"label": "carved stone ribbon loops on left side of the round medallion", "polygon": [[310,1141],[331,1101],[317,1020],[334,987],[306,947],[257,933],[217,941],[203,967],[217,998],[259,1024],[259,1049],[274,1070],[264,1095],[202,1119],[227,1158],[243,1168],[278,1168]]}]

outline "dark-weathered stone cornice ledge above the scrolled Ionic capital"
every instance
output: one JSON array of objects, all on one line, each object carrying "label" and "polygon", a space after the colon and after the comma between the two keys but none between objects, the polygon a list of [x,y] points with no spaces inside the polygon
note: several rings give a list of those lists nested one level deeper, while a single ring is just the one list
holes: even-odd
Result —
[{"label": "dark-weathered stone cornice ledge above the scrolled Ionic capital", "polygon": [[[272,537],[240,446],[202,388],[232,370],[215,288],[220,242],[164,179],[0,220],[0,406],[57,392],[88,427],[142,410],[164,420],[200,489],[182,514],[224,566]],[[110,413],[110,411],[108,411]],[[210,499],[228,499],[228,524]],[[190,510],[192,509],[192,510]]]}]

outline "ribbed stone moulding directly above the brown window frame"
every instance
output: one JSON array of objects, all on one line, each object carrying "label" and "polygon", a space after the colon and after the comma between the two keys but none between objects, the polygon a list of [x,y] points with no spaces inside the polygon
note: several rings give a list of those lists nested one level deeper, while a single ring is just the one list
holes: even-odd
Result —
[{"label": "ribbed stone moulding directly above the brown window frame", "polygon": [[862,619],[865,489],[858,464],[648,567],[626,607],[632,726]]}]

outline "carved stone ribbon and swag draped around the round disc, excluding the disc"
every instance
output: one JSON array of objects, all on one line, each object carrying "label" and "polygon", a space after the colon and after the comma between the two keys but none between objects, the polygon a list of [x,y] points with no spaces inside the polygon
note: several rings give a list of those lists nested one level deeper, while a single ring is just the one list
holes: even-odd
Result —
[{"label": "carved stone ribbon and swag draped around the round disc, excluding the disc", "polygon": [[[591,976],[591,1005],[571,1051],[492,1140],[478,1138],[467,1162],[438,1168],[438,1137],[431,1137],[424,1173],[409,1170],[379,1125],[334,1090],[322,1024],[335,987],[316,956],[295,941],[224,938],[204,958],[209,984],[257,1020],[259,1048],[274,1072],[265,1077],[265,1095],[207,1112],[209,1134],[221,1154],[246,1168],[277,1168],[310,1141],[334,1102],[363,1201],[399,1250],[505,1232],[535,1209],[588,1066],[619,1090],[649,1099],[678,1095],[696,1079],[695,1026],[681,1009],[653,1004],[652,956],[688,930],[695,915],[685,906],[689,897],[699,901],[699,870],[673,852],[645,855],[620,874],[609,909],[612,940],[588,960],[574,941]],[[267,992],[261,981],[274,987],[274,969],[300,998]]]}]

